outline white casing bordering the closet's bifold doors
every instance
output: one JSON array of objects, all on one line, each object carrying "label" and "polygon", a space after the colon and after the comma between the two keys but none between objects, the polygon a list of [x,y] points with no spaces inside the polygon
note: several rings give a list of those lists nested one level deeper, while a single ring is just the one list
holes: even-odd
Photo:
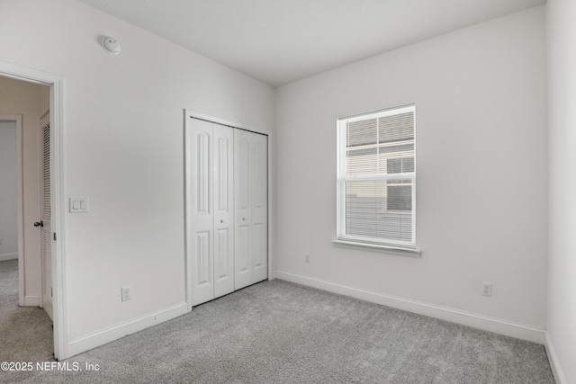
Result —
[{"label": "white casing bordering the closet's bifold doors", "polygon": [[185,241],[185,246],[184,246],[184,271],[185,271],[185,287],[186,287],[186,303],[187,303],[187,307],[188,307],[188,312],[192,311],[193,309],[193,304],[192,304],[192,289],[193,289],[193,284],[192,284],[192,273],[193,273],[193,265],[192,265],[192,260],[190,257],[190,253],[189,251],[191,251],[189,249],[189,246],[192,245],[193,243],[191,242],[190,237],[190,233],[189,233],[189,229],[191,228],[191,217],[192,217],[192,201],[190,201],[189,198],[189,193],[188,191],[191,188],[192,182],[193,180],[191,179],[191,170],[188,169],[188,164],[189,160],[190,160],[190,156],[192,154],[190,154],[189,151],[189,147],[187,145],[188,143],[188,126],[190,124],[190,119],[200,119],[200,120],[204,120],[204,121],[210,121],[213,123],[217,123],[217,124],[221,124],[221,125],[225,125],[225,126],[229,126],[231,128],[237,128],[237,129],[245,129],[245,130],[249,130],[252,132],[256,132],[256,133],[260,133],[263,135],[267,136],[267,160],[268,160],[268,182],[267,182],[267,194],[268,194],[268,249],[267,249],[267,258],[268,258],[268,280],[272,280],[274,279],[273,276],[273,264],[272,264],[272,260],[273,260],[273,253],[272,250],[274,249],[274,239],[271,236],[271,234],[274,233],[273,231],[273,219],[274,219],[274,210],[272,209],[273,207],[273,199],[272,199],[272,186],[271,186],[271,180],[272,179],[272,170],[274,169],[274,164],[272,161],[273,158],[273,147],[272,147],[272,143],[274,142],[273,139],[273,135],[272,132],[270,132],[269,130],[266,129],[257,129],[255,127],[249,127],[246,126],[244,124],[240,124],[238,122],[234,122],[234,121],[224,121],[222,119],[210,116],[210,115],[206,115],[203,113],[199,113],[199,112],[193,112],[192,110],[188,110],[185,109],[184,110],[184,210],[185,210],[185,218],[184,218],[184,241]]}]

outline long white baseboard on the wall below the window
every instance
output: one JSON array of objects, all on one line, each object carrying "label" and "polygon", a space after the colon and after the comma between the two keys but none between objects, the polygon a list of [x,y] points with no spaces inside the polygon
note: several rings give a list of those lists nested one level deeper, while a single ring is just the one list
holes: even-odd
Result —
[{"label": "long white baseboard on the wall below the window", "polygon": [[518,324],[507,320],[501,320],[500,318],[477,315],[458,309],[440,307],[415,300],[402,299],[368,290],[358,290],[356,288],[346,287],[333,282],[321,281],[288,272],[275,271],[274,277],[317,288],[319,290],[328,290],[330,292],[371,301],[387,307],[406,310],[419,315],[439,318],[463,326],[472,326],[474,328],[483,329],[500,335],[516,337],[537,344],[545,344],[545,331],[534,326]]}]

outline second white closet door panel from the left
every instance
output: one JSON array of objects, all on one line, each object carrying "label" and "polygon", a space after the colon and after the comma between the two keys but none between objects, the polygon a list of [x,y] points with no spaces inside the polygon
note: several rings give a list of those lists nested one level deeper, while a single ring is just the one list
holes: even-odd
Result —
[{"label": "second white closet door panel from the left", "polygon": [[234,130],[213,124],[214,298],[234,290]]}]

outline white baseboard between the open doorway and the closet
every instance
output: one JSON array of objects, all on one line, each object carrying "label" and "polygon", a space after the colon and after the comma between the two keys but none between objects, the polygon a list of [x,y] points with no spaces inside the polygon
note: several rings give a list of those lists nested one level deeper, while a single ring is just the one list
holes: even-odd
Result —
[{"label": "white baseboard between the open doorway and the closet", "polygon": [[127,321],[118,326],[111,326],[92,334],[77,337],[68,343],[67,356],[63,357],[63,359],[69,358],[78,353],[84,353],[97,346],[139,332],[149,326],[156,326],[172,318],[185,315],[186,313],[188,313],[187,306],[186,303],[183,302],[174,307],[166,308],[150,315]]}]

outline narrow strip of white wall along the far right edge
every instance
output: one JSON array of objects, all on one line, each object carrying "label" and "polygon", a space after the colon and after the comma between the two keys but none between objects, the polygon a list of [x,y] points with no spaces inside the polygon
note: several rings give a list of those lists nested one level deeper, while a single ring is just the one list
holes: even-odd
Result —
[{"label": "narrow strip of white wall along the far right edge", "polygon": [[559,383],[576,382],[576,3],[548,0],[548,336]]}]

